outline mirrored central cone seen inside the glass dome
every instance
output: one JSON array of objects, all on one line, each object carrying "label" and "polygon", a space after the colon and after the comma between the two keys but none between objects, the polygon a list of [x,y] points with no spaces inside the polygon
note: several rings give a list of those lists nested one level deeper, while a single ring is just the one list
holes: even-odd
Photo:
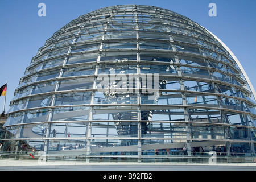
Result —
[{"label": "mirrored central cone seen inside the glass dome", "polygon": [[[141,80],[141,79],[140,79]],[[156,80],[154,80],[156,81]],[[145,92],[141,92],[141,97],[144,97],[144,102],[142,104],[157,104],[159,100],[159,88],[164,88],[167,81],[160,81],[158,85],[156,85],[154,92],[148,92],[148,84],[150,84],[150,88],[155,82],[146,82],[146,84],[142,83],[141,80],[141,89],[145,89]],[[109,84],[109,89],[113,89],[113,84]],[[136,84],[135,84],[136,85]],[[133,92],[132,89],[131,92]],[[137,96],[138,93],[131,94],[130,92],[104,92],[104,96],[106,98],[106,102],[109,104],[127,104],[127,98],[133,98],[133,96]],[[138,111],[118,111],[115,110],[112,114],[114,120],[118,120],[119,122],[115,122],[115,127],[117,129],[118,135],[122,135],[122,137],[136,137],[138,134]],[[141,111],[141,133],[146,134],[148,130],[150,130],[149,122],[151,121],[152,115],[154,114],[154,110],[149,111]],[[122,122],[124,121],[124,122]],[[125,121],[136,121],[136,122],[125,122]],[[144,121],[144,122],[143,122]]]}]

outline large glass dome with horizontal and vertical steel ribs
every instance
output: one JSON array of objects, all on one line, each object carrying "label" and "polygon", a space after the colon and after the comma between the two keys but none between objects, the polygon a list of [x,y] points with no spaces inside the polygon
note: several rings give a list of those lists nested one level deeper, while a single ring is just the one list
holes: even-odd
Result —
[{"label": "large glass dome with horizontal and vertical steel ribs", "polygon": [[[191,156],[217,145],[226,155],[236,145],[255,155],[254,99],[237,58],[199,24],[159,7],[111,6],[72,20],[39,48],[1,140],[14,152],[26,141],[88,161],[111,154],[141,162],[183,147]],[[81,147],[59,150],[70,144]]]}]

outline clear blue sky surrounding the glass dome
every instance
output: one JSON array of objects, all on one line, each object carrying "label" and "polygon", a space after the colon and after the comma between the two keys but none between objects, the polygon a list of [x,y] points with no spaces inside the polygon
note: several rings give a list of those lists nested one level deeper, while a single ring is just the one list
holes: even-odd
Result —
[{"label": "clear blue sky surrounding the glass dome", "polygon": [[[38,4],[46,4],[46,17],[38,16]],[[217,16],[210,17],[209,3],[216,3]],[[6,111],[14,96],[20,77],[38,49],[54,32],[80,15],[101,7],[139,4],[163,7],[187,16],[213,32],[240,60],[256,88],[256,1],[219,0],[2,0],[0,6],[0,85],[8,81]],[[4,96],[0,97],[0,112]]]}]

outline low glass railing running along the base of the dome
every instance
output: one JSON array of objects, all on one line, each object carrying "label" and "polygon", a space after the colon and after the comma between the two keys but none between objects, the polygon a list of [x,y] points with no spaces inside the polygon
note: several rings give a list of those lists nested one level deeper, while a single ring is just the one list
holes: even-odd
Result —
[{"label": "low glass railing running along the base of the dome", "polygon": [[[79,149],[78,149],[79,150]],[[99,163],[99,162],[114,162],[114,163],[200,163],[200,164],[237,164],[237,163],[255,163],[256,156],[244,153],[232,153],[226,155],[217,153],[215,151],[209,152],[192,152],[188,155],[183,151],[147,151],[142,152],[141,155],[127,155],[125,152],[109,152],[110,154],[85,154],[71,155],[71,154],[44,154],[42,151],[26,151],[26,152],[0,152],[0,159],[31,159],[37,160],[38,164],[43,162],[54,161],[81,161],[86,163]]]}]

